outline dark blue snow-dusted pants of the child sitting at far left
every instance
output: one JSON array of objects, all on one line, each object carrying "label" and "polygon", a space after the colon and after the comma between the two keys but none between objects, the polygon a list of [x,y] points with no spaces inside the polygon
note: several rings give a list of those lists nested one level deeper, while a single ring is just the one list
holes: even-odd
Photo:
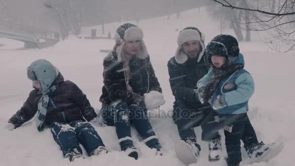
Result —
[{"label": "dark blue snow-dusted pants of the child sitting at far left", "polygon": [[88,155],[92,155],[93,150],[99,146],[104,147],[98,133],[88,122],[81,120],[70,123],[54,122],[50,128],[53,138],[62,149],[64,156],[75,148],[82,154],[79,143],[83,145]]}]

